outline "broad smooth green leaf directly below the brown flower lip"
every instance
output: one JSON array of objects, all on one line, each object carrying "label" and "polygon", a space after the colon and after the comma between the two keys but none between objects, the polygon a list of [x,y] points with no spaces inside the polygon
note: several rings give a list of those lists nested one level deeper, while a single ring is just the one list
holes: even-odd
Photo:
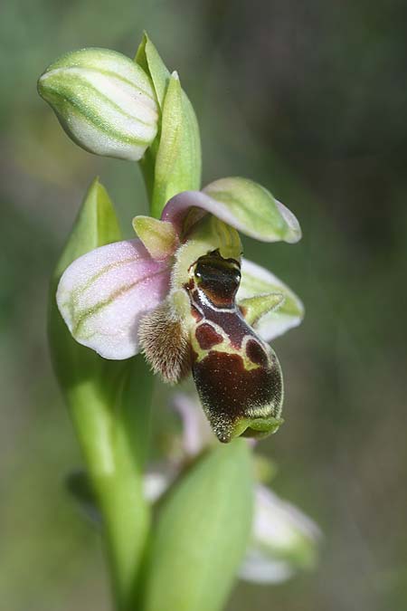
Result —
[{"label": "broad smooth green leaf directly below the brown flower lip", "polygon": [[251,511],[247,442],[202,456],[163,501],[143,611],[222,609],[246,549]]}]

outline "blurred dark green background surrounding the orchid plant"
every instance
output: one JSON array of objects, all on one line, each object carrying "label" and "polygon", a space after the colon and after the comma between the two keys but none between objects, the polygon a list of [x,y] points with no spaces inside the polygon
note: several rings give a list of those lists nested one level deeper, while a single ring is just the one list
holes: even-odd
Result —
[{"label": "blurred dark green background surrounding the orchid plant", "polygon": [[[325,541],[315,572],[240,584],[229,611],[407,608],[407,5],[5,0],[0,17],[1,608],[109,609],[98,537],[63,485],[80,456],[47,352],[47,284],[92,177],[128,236],[147,198],[137,167],[77,148],[35,86],[71,49],[133,55],[144,28],[193,100],[204,183],[258,180],[304,232],[245,247],[306,304],[275,341],[286,425],[261,449]],[[175,426],[162,396],[157,447]]]}]

